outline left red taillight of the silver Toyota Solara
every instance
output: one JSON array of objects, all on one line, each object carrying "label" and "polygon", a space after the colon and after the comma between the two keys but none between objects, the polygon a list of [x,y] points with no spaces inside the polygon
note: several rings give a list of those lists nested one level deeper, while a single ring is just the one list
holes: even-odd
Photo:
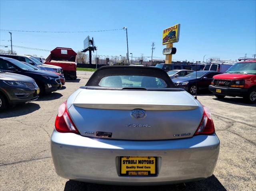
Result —
[{"label": "left red taillight of the silver Toyota Solara", "polygon": [[58,114],[55,120],[55,129],[58,132],[62,133],[76,133],[79,134],[76,126],[72,122],[68,110],[67,110],[67,101],[63,102],[59,109]]}]

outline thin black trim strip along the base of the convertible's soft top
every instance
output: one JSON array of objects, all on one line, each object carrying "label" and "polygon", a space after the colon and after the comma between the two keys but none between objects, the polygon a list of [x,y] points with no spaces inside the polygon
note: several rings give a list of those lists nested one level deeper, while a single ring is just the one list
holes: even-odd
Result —
[{"label": "thin black trim strip along the base of the convertible's soft top", "polygon": [[101,86],[81,86],[80,89],[88,90],[122,90],[122,91],[185,91],[182,88],[128,88],[128,87],[101,87]]}]

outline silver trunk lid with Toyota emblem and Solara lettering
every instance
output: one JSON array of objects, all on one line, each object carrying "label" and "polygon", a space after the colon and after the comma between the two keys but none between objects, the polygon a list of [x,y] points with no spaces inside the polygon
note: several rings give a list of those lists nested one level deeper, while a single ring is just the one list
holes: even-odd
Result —
[{"label": "silver trunk lid with Toyota emblem and Solara lettering", "polygon": [[[203,113],[200,103],[185,91],[83,89],[68,102],[82,136],[121,140],[191,137]],[[145,117],[134,117],[134,109],[144,110]]]}]

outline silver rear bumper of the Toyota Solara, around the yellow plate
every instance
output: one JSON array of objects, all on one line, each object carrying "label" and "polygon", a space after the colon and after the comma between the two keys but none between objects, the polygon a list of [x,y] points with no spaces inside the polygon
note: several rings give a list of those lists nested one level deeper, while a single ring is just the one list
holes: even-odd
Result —
[{"label": "silver rear bumper of the Toyota Solara, around the yellow plate", "polygon": [[[88,138],[54,130],[51,137],[52,159],[58,175],[114,185],[160,185],[210,177],[219,149],[216,134],[176,140],[127,141]],[[156,156],[158,175],[120,176],[120,156]]]}]

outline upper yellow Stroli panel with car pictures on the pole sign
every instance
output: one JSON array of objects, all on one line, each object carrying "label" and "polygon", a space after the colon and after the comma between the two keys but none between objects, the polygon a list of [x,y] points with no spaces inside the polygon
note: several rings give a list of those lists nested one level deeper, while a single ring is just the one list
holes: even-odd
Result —
[{"label": "upper yellow Stroli panel with car pictures on the pole sign", "polygon": [[180,24],[176,24],[171,26],[165,30],[163,30],[163,45],[168,43],[178,42],[180,38]]}]

